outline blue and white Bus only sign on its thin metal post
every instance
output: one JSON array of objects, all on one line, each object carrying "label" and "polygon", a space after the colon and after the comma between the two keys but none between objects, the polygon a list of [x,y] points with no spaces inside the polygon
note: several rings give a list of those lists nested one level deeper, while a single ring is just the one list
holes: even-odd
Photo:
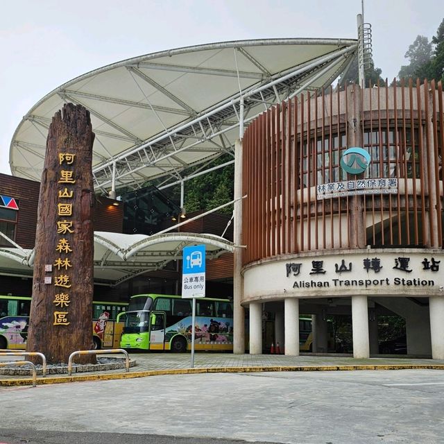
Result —
[{"label": "blue and white Bus only sign on its thin metal post", "polygon": [[191,368],[194,368],[196,298],[205,297],[205,245],[185,247],[182,255],[182,298],[193,298],[191,318]]}]

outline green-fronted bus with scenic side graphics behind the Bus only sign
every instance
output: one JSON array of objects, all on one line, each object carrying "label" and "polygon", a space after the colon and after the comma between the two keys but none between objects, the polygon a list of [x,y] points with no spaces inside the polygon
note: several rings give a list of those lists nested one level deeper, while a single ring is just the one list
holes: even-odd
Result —
[{"label": "green-fronted bus with scenic side graphics behind the Bus only sign", "polygon": [[[178,353],[190,350],[191,304],[191,299],[181,296],[132,296],[126,311],[121,348]],[[232,313],[232,302],[228,299],[197,298],[195,350],[232,350]]]}]

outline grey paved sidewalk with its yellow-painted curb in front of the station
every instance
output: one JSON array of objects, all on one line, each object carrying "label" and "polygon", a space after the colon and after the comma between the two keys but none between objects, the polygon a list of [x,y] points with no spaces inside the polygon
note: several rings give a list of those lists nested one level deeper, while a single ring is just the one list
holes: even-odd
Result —
[{"label": "grey paved sidewalk with its yellow-painted curb in front of the station", "polygon": [[[108,356],[108,355],[101,355]],[[109,355],[116,357],[118,355]],[[0,357],[1,361],[21,360]],[[349,355],[233,355],[232,353],[196,353],[194,368],[191,368],[191,355],[175,353],[131,353],[130,359],[136,365],[125,369],[37,377],[37,384],[56,384],[62,382],[91,381],[100,379],[127,379],[154,375],[186,373],[250,373],[282,371],[327,371],[327,370],[398,370],[398,369],[435,369],[444,370],[444,361],[435,359],[416,359],[411,357],[372,357],[354,359]],[[31,377],[0,375],[0,386],[29,385]]]}]

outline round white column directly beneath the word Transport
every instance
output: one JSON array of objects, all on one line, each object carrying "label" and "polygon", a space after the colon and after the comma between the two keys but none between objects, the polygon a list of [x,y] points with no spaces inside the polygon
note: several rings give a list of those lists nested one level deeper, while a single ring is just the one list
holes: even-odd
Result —
[{"label": "round white column directly beneath the word Transport", "polygon": [[352,296],[353,357],[370,357],[367,296]]}]

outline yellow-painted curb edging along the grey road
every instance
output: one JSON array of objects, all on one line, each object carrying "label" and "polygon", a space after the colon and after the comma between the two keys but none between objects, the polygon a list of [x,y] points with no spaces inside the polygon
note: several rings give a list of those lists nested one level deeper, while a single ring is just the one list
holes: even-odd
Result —
[{"label": "yellow-painted curb edging along the grey road", "polygon": [[[313,372],[313,371],[350,371],[350,370],[444,370],[444,364],[381,364],[355,366],[257,366],[257,367],[205,367],[177,368],[173,370],[145,370],[133,373],[96,373],[94,375],[75,375],[37,378],[37,385],[65,384],[67,382],[105,381],[110,379],[131,379],[160,375],[190,375],[200,373],[261,373],[261,372]],[[32,378],[1,379],[0,386],[28,386]]]}]

